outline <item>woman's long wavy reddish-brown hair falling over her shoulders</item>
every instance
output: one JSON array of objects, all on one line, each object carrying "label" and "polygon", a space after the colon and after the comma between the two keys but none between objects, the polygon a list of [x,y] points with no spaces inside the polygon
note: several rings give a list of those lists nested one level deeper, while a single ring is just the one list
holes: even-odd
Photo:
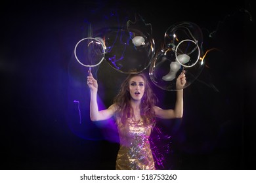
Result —
[{"label": "woman's long wavy reddish-brown hair falling over her shoulders", "polygon": [[154,112],[154,106],[158,103],[158,98],[153,92],[148,79],[143,73],[130,74],[125,78],[122,82],[121,87],[119,89],[119,93],[117,93],[114,98],[114,103],[117,105],[117,113],[116,116],[121,119],[121,122],[125,124],[127,118],[132,118],[133,109],[131,108],[131,95],[129,92],[129,83],[131,78],[135,76],[140,76],[144,80],[144,95],[142,96],[140,102],[140,116],[145,125],[151,125],[154,127],[156,125],[156,114]]}]

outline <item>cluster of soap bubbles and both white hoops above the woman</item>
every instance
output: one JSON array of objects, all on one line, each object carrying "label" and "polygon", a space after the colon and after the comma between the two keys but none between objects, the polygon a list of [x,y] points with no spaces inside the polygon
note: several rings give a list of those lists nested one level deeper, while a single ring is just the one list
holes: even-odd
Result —
[{"label": "cluster of soap bubbles and both white hoops above the woman", "polygon": [[[83,44],[81,44],[83,42]],[[126,27],[105,27],[75,46],[75,58],[85,67],[103,60],[125,74],[140,73],[150,67],[152,82],[163,90],[177,90],[176,80],[186,71],[186,88],[202,72],[203,34],[193,22],[177,22],[165,32],[163,46],[155,54],[152,26],[142,17],[127,21]],[[80,59],[81,58],[81,59]],[[81,61],[82,60],[82,61]]]}]

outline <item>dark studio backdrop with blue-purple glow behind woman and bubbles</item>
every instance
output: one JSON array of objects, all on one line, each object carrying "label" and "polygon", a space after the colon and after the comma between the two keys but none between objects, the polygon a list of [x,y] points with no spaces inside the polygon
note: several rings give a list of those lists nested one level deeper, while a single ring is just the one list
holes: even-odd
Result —
[{"label": "dark studio backdrop with blue-purple glow behind woman and bubbles", "polygon": [[[158,124],[171,136],[165,169],[255,169],[255,2],[234,2],[1,2],[0,169],[115,169],[116,129],[89,120],[88,68],[74,47],[89,25],[123,24],[135,13],[152,24],[156,50],[180,21],[201,27],[204,51],[221,50],[184,89],[182,120]],[[125,75],[106,61],[92,72],[108,107]],[[160,107],[173,107],[175,92],[152,87]]]}]

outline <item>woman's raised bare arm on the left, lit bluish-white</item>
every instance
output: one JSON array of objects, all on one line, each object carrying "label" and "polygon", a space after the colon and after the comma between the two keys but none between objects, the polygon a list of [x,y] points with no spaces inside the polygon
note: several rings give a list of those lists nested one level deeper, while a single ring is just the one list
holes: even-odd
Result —
[{"label": "woman's raised bare arm on the left, lit bluish-white", "polygon": [[88,71],[87,84],[91,89],[91,102],[90,102],[90,118],[92,121],[101,121],[111,118],[116,112],[116,105],[111,105],[107,109],[98,110],[97,103],[97,92],[98,92],[98,82],[93,77],[91,71]]}]

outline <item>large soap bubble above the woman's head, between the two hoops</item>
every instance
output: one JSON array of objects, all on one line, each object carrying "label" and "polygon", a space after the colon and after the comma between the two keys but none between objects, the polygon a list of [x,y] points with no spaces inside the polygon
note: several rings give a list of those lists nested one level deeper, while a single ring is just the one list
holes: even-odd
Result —
[{"label": "large soap bubble above the woman's head, between the two hoops", "polygon": [[121,73],[140,73],[154,58],[152,27],[141,17],[135,22],[128,21],[127,27],[102,28],[94,37],[104,42],[104,58]]}]

